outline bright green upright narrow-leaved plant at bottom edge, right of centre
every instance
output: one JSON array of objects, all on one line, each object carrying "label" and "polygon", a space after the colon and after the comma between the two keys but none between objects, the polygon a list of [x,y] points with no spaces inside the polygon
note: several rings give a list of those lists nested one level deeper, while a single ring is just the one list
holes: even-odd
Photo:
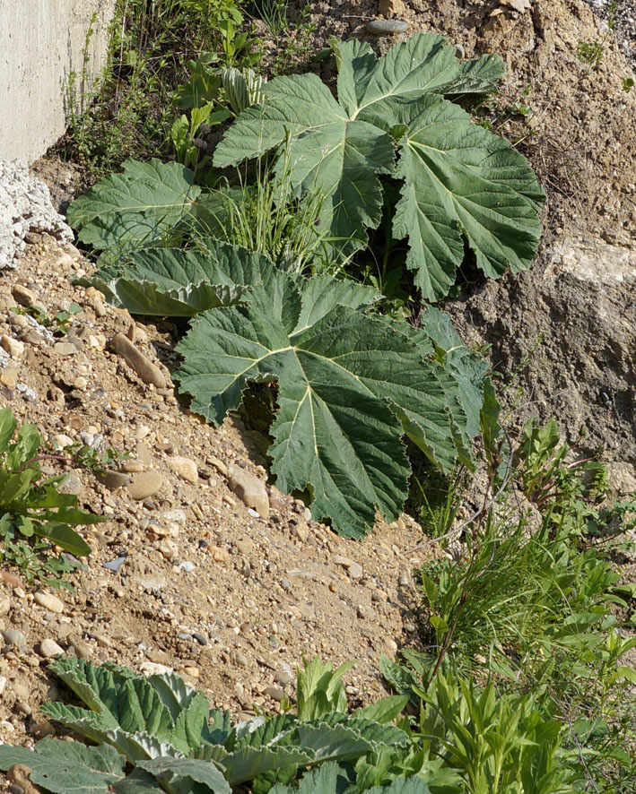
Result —
[{"label": "bright green upright narrow-leaved plant at bottom edge, right of centre", "polygon": [[411,763],[428,761],[431,791],[579,790],[582,774],[578,759],[563,752],[562,723],[546,718],[532,695],[501,693],[492,681],[478,686],[452,672],[430,678],[418,660],[407,655],[413,667],[383,657],[380,669],[391,686],[410,696],[417,710],[410,730],[415,746],[422,749]]}]

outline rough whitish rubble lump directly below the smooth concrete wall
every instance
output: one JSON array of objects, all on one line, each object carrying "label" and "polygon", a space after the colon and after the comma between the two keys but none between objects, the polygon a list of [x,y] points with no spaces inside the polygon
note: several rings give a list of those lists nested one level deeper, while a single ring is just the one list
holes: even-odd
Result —
[{"label": "rough whitish rubble lump directly below the smooth concrete wall", "polygon": [[20,160],[0,160],[0,271],[17,267],[27,241],[44,232],[60,242],[74,240],[48,186]]}]

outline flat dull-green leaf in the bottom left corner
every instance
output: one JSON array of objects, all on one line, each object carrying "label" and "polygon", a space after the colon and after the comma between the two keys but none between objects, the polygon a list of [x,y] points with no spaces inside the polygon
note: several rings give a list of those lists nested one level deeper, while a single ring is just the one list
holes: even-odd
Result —
[{"label": "flat dull-green leaf in the bottom left corner", "polygon": [[109,745],[43,738],[33,750],[0,745],[0,769],[30,768],[30,781],[53,794],[104,794],[125,777],[126,758]]}]

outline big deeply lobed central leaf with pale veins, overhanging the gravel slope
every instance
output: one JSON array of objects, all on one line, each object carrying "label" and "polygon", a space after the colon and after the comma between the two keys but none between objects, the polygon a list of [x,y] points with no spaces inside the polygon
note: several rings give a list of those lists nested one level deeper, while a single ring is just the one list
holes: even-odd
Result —
[{"label": "big deeply lobed central leaf with pale veins, overhanging the gravel slope", "polygon": [[450,470],[465,428],[457,429],[457,380],[425,332],[327,295],[279,273],[267,290],[249,290],[245,305],[198,315],[179,343],[175,376],[192,409],[217,424],[250,381],[276,382],[270,454],[279,488],[309,487],[317,520],[361,537],[376,511],[393,520],[402,509],[410,471],[403,434]]}]

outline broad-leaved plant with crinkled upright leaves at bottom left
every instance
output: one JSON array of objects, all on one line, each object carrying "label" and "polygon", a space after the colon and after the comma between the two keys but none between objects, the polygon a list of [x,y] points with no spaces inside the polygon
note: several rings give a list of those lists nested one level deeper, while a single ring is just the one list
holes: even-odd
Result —
[{"label": "broad-leaved plant with crinkled upright leaves at bottom left", "polygon": [[[299,686],[308,664],[299,671]],[[276,782],[292,782],[308,766],[351,764],[408,743],[405,731],[391,724],[405,698],[389,697],[350,715],[346,701],[338,698],[315,719],[264,715],[232,726],[229,712],[210,710],[205,695],[173,673],[146,678],[114,664],[94,667],[62,657],[49,670],[84,708],[47,703],[42,711],[97,747],[79,745],[69,752],[65,742],[43,739],[32,753],[4,745],[0,767],[28,763],[32,782],[60,794],[79,785],[91,794],[105,787],[120,794],[230,794],[248,781],[251,790],[265,794]],[[328,685],[303,686],[316,695]],[[344,711],[337,710],[341,706]]]}]

